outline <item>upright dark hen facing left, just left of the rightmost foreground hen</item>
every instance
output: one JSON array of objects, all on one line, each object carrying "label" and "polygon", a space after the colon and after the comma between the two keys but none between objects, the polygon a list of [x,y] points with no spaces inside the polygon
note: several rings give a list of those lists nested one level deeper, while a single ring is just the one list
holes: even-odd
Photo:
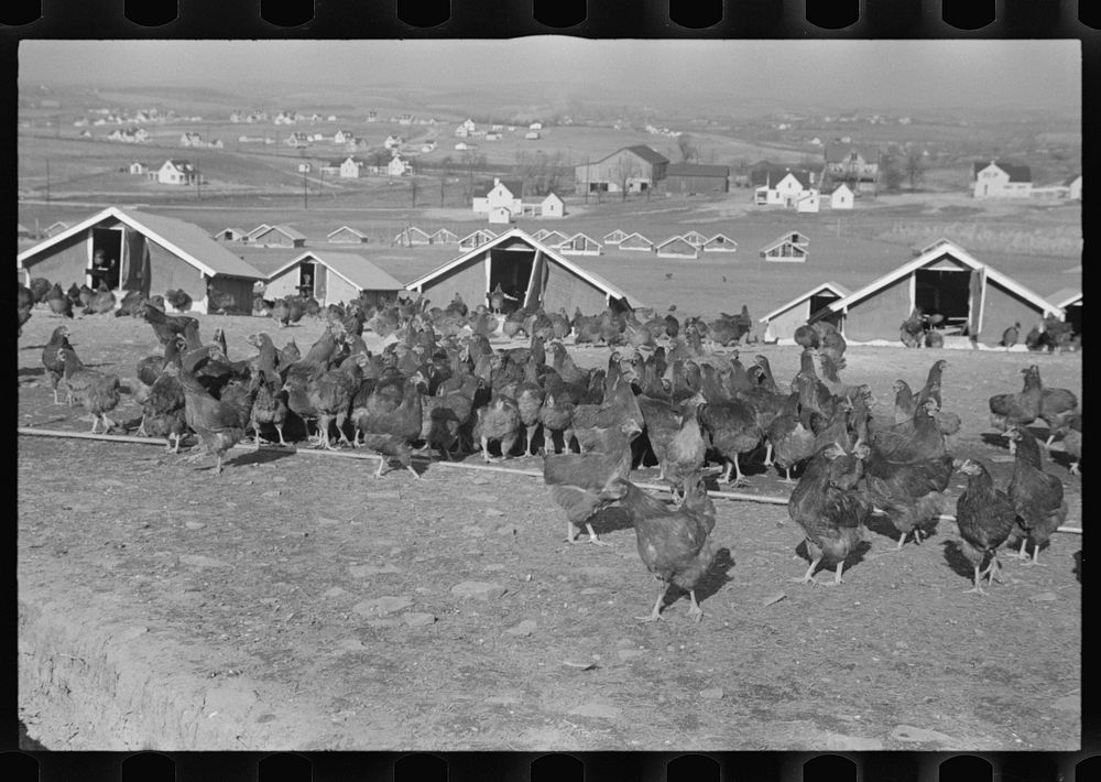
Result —
[{"label": "upright dark hen facing left, just left of the rightmost foreground hen", "polygon": [[[959,470],[967,476],[967,488],[956,500],[956,524],[963,541],[960,551],[974,568],[974,586],[968,591],[985,595],[982,577],[988,576],[989,587],[996,571],[1001,569],[998,547],[1013,532],[1016,511],[1006,493],[994,486],[994,479],[981,461],[967,459],[959,463]],[[990,557],[990,565],[980,571],[986,557]]]}]

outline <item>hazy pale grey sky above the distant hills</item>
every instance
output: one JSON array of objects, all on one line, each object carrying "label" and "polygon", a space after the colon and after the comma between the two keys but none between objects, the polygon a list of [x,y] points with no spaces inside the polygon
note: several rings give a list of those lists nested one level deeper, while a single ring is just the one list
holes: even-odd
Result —
[{"label": "hazy pale grey sky above the distant hills", "polygon": [[[303,86],[552,79],[839,106],[1077,110],[1078,41],[23,41],[20,83]],[[626,97],[626,96],[625,96]]]}]

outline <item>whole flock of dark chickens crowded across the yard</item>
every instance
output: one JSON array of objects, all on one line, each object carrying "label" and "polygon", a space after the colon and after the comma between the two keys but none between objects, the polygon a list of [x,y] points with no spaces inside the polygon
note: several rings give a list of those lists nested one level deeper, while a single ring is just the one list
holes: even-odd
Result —
[{"label": "whole flock of dark chickens crowded across the yard", "polygon": [[[141,316],[163,352],[142,359],[137,382],[128,383],[143,410],[139,433],[165,438],[173,452],[194,433],[201,447],[187,458],[214,455],[218,473],[226,452],[249,432],[257,448],[262,433],[272,432],[281,445],[290,436],[319,448],[370,448],[382,456],[375,476],[396,461],[419,478],[412,466],[417,446],[446,459],[480,449],[487,461],[539,448],[570,542],[584,526],[602,543],[592,523],[609,507],[630,515],[639,554],[658,579],[647,620],[662,618],[671,584],[688,593],[690,616],[702,617],[695,589],[717,553],[704,468],[709,460],[721,464],[720,480],[744,484],[742,463],[762,447],[764,464],[795,484],[788,513],[810,558],[796,579],[802,583],[818,583],[815,572],[826,565],[835,568],[832,584],[840,584],[873,513],[890,519],[900,549],[911,535],[920,543],[937,523],[955,470],[968,477],[956,515],[961,550],[974,568],[973,591],[983,593],[983,577],[988,586],[996,578],[998,549],[1014,532],[1020,556],[1036,564],[1066,518],[1062,484],[1043,470],[1040,445],[1026,426],[1045,422],[1048,445],[1061,435],[1077,473],[1081,415],[1075,394],[1045,388],[1036,366],[1023,370],[1021,392],[990,399],[991,422],[1014,452],[1003,492],[978,459],[947,453],[946,436],[960,420],[942,410],[942,359],[917,392],[903,380],[895,383],[893,414],[873,415],[868,387],[840,378],[846,344],[828,324],[802,332],[800,369],[782,388],[765,357],[745,366],[737,348],[715,349],[744,343],[744,308],[742,316],[710,323],[682,323],[672,312],[646,321],[633,313],[569,318],[521,312],[505,325],[513,324],[510,336],[530,337],[527,347],[493,349],[488,322],[479,321],[492,318],[484,307],[468,311],[458,296],[445,308],[427,304],[330,305],[318,313],[326,328],[305,355],[293,339],[276,347],[260,333],[249,338],[257,354],[233,360],[220,329],[205,344],[196,318],[145,302]],[[364,328],[389,336],[381,352],[367,348]],[[570,334],[633,350],[625,356],[613,347],[606,367],[581,369],[562,341]],[[91,413],[92,432],[100,423],[110,431],[116,424],[108,413],[123,384],[85,367],[68,336],[67,326],[57,327],[42,355],[54,402],[61,403],[63,388],[70,404]],[[659,467],[672,502],[629,479],[644,464]]]}]

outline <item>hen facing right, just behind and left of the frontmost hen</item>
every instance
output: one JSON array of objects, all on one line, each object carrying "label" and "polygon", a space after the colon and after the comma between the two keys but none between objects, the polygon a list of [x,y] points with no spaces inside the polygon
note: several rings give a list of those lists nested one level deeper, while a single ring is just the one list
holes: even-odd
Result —
[{"label": "hen facing right, just behind and left of the frontmost hen", "polygon": [[[631,471],[631,442],[642,427],[634,420],[602,430],[599,443],[586,454],[552,454],[543,461],[543,481],[550,499],[566,511],[566,540],[573,543],[585,524],[589,540],[607,545],[592,529],[592,517],[623,497],[619,481]],[[599,448],[599,449],[598,449]]]}]

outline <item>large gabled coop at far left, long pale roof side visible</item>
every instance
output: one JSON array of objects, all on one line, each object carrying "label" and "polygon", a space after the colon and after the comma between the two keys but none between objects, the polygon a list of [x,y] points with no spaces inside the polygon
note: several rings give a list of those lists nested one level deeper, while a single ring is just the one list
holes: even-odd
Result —
[{"label": "large gabled coop at far left, long pale roof side visible", "polygon": [[[113,261],[106,275],[94,274],[97,251]],[[95,286],[103,279],[121,298],[178,290],[192,312],[206,313],[210,301],[226,312],[248,313],[252,289],[264,275],[198,226],[174,217],[110,206],[17,256],[25,282],[44,276],[62,287]],[[232,304],[229,303],[232,297]]]}]

